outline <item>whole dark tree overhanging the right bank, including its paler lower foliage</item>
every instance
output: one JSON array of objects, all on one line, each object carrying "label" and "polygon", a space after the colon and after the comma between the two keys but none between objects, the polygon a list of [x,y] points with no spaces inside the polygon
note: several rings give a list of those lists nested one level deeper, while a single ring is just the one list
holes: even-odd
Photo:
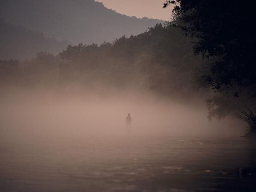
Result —
[{"label": "whole dark tree overhanging the right bank, including its paler lower foliage", "polygon": [[208,100],[210,117],[223,118],[238,111],[238,118],[245,120],[249,127],[255,126],[244,116],[253,113],[250,108],[256,107],[252,2],[168,0],[163,8],[173,4],[171,25],[183,29],[193,39],[194,54],[201,54],[204,59],[200,69],[200,77],[206,81],[204,87],[215,92]]}]

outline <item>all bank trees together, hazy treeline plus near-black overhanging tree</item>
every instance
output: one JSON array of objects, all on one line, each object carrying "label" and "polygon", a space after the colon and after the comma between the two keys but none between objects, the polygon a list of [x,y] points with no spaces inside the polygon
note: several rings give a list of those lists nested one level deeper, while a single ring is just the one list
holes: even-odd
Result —
[{"label": "all bank trees together, hazy treeline plus near-black overhanging tree", "polygon": [[69,45],[56,56],[40,52],[30,60],[0,60],[1,87],[107,85],[186,103],[201,98],[206,100],[209,119],[227,115],[241,119],[248,124],[245,137],[255,138],[253,11],[238,1],[219,1],[220,7],[215,1],[179,0],[167,1],[165,7],[177,3],[171,23],[157,24],[139,35],[101,45]]}]

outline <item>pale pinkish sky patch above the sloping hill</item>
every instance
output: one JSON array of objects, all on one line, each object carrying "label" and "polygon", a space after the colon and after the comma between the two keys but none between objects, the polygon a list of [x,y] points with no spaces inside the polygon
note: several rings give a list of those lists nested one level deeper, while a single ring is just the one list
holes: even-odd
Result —
[{"label": "pale pinkish sky patch above the sloping hill", "polygon": [[163,9],[165,0],[96,0],[102,2],[106,8],[113,9],[118,13],[136,16],[138,18],[148,17],[154,19],[169,20],[172,7]]}]

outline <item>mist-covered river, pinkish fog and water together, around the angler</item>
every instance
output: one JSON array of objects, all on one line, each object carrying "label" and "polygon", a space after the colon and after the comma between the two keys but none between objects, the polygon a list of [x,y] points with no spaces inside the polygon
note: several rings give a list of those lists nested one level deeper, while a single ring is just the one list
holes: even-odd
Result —
[{"label": "mist-covered river, pinkish fog and water together, around the angler", "polygon": [[[198,104],[135,92],[14,95],[1,100],[2,191],[240,191],[256,181],[241,172],[255,166],[253,143]],[[130,136],[127,113],[137,115]]]}]

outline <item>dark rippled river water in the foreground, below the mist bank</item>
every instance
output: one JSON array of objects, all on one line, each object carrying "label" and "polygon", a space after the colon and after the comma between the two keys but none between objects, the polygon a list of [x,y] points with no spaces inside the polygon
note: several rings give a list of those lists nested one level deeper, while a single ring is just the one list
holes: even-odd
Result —
[{"label": "dark rippled river water in the foreground, below the mist bank", "polygon": [[85,137],[0,142],[0,191],[256,191],[244,138]]}]

